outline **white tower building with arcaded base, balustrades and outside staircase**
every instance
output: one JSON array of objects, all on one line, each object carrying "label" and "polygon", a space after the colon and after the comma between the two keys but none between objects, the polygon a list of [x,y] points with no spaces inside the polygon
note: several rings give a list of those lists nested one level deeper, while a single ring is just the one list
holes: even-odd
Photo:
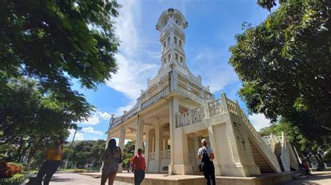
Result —
[{"label": "white tower building with arcaded base, balustrades and outside staircase", "polygon": [[[182,13],[165,10],[156,24],[161,33],[161,67],[147,80],[130,111],[112,115],[108,140],[135,140],[135,152],[145,143],[147,172],[186,175],[198,171],[200,140],[214,150],[216,175],[249,177],[281,172],[274,151],[253,128],[237,101],[223,93],[214,97],[201,77],[187,67]],[[284,159],[285,160],[285,159]]]}]

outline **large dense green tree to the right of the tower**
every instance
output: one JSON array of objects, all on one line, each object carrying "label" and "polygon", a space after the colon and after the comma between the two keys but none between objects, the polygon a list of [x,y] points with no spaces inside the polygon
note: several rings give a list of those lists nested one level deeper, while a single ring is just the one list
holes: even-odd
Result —
[{"label": "large dense green tree to the right of the tower", "polygon": [[[330,4],[281,1],[264,22],[235,36],[229,63],[242,81],[239,95],[250,113],[287,118],[305,136],[312,132],[308,124],[330,134]],[[303,124],[306,118],[310,122]]]}]

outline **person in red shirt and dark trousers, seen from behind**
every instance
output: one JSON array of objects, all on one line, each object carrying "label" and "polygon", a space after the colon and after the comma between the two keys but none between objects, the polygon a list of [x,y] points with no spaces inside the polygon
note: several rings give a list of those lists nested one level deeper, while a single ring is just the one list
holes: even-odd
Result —
[{"label": "person in red shirt and dark trousers, seen from behind", "polygon": [[146,170],[145,156],[142,155],[141,148],[138,149],[138,154],[133,156],[132,163],[135,174],[135,185],[139,185],[145,179]]}]

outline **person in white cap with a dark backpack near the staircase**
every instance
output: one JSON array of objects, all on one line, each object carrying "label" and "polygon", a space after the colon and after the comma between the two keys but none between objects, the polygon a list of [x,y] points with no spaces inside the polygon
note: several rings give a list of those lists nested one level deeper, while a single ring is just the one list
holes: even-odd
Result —
[{"label": "person in white cap with a dark backpack near the staircase", "polygon": [[207,140],[201,140],[201,145],[198,150],[198,159],[201,159],[201,170],[203,170],[203,175],[207,179],[207,185],[216,184],[215,179],[215,168],[212,160],[215,158],[212,147],[207,147]]}]

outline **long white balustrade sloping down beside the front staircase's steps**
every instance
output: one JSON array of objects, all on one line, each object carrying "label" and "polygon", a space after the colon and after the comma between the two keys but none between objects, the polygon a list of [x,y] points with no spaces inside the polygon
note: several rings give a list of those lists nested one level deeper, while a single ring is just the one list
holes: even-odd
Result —
[{"label": "long white balustrade sloping down beside the front staircase's steps", "polygon": [[258,145],[260,146],[260,149],[263,150],[263,153],[265,153],[265,155],[269,158],[269,161],[272,163],[274,168],[276,168],[276,170],[278,172],[281,172],[281,170],[280,170],[281,168],[279,167],[279,163],[277,161],[277,156],[274,155],[274,152],[272,152],[270,147],[268,147],[267,144],[263,141],[260,134],[258,134],[258,131],[256,131],[256,129],[254,129],[251,122],[249,122],[249,120],[246,118],[246,115],[244,114],[243,111],[241,111],[240,115],[242,117],[242,120],[244,121],[244,123],[248,127],[248,129],[251,131],[251,134],[253,134],[254,138],[258,142]]}]

